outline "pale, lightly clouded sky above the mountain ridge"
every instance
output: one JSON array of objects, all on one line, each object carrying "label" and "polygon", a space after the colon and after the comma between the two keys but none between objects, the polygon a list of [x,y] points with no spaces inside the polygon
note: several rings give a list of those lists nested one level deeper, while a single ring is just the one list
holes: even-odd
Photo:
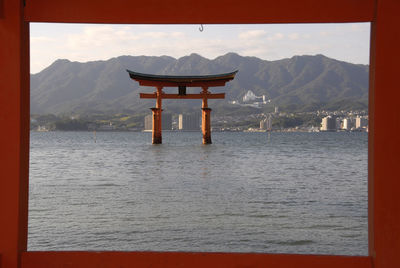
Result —
[{"label": "pale, lightly clouded sky above the mountain ridge", "polygon": [[279,60],[323,54],[369,64],[369,23],[115,25],[31,23],[31,73],[57,59],[87,62],[121,55],[174,58],[197,53],[214,59],[228,52]]}]

